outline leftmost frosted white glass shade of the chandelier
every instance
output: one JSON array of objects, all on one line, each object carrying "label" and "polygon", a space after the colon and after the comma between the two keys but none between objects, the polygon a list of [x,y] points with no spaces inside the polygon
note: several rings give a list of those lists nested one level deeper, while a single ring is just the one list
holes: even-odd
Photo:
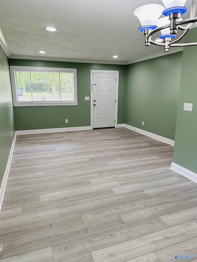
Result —
[{"label": "leftmost frosted white glass shade of the chandelier", "polygon": [[155,25],[165,8],[161,5],[150,4],[138,7],[134,14],[137,16],[142,26]]}]

